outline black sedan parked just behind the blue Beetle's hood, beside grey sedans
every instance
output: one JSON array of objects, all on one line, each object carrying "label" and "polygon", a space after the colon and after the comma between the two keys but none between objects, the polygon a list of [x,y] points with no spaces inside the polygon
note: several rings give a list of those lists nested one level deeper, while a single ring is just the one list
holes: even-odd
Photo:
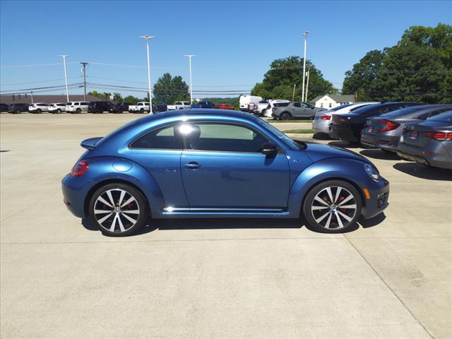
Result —
[{"label": "black sedan parked just behind the blue Beetle's hood, beside grey sedans", "polygon": [[381,104],[364,106],[348,114],[333,114],[329,135],[334,139],[359,143],[361,141],[361,131],[364,129],[367,119],[415,105],[422,104],[420,102],[383,102]]}]

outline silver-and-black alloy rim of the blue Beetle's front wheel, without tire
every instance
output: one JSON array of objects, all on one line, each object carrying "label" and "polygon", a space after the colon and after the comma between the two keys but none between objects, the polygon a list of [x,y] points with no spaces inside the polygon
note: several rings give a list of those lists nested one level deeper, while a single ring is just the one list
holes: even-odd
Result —
[{"label": "silver-and-black alloy rim of the blue Beetle's front wheel, without tire", "polygon": [[321,227],[340,230],[355,218],[357,201],[353,194],[340,186],[330,186],[319,191],[311,203],[311,213]]}]

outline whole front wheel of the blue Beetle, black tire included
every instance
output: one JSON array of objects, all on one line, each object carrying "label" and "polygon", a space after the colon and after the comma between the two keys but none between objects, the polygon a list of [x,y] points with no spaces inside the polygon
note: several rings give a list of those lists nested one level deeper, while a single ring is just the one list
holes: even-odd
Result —
[{"label": "whole front wheel of the blue Beetle, black tire included", "polygon": [[[347,208],[338,208],[340,205]],[[362,198],[355,186],[331,180],[321,182],[309,191],[302,210],[309,226],[317,232],[341,233],[355,227],[361,208]]]}]

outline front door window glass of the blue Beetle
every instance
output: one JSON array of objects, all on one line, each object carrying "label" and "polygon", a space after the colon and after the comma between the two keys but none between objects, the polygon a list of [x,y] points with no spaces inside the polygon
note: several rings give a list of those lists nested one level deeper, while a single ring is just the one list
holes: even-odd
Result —
[{"label": "front door window glass of the blue Beetle", "polygon": [[179,131],[191,150],[259,153],[268,141],[261,133],[235,124],[184,124]]}]

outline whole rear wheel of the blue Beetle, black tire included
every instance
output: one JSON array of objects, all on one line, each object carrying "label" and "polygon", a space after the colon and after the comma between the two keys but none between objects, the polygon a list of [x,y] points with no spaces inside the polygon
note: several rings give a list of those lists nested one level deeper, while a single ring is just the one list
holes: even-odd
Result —
[{"label": "whole rear wheel of the blue Beetle, black tire included", "polygon": [[[128,201],[131,202],[124,206]],[[145,197],[141,191],[127,184],[107,184],[97,189],[90,198],[90,221],[103,234],[112,237],[124,237],[137,232],[145,225],[148,216],[149,208]]]}]

